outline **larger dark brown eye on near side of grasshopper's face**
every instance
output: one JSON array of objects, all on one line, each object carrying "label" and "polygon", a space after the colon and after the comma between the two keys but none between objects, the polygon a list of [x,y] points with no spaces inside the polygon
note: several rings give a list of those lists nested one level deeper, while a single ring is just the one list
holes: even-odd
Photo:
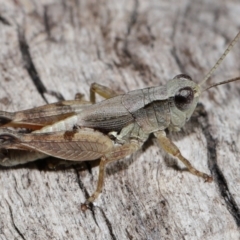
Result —
[{"label": "larger dark brown eye on near side of grasshopper's face", "polygon": [[179,110],[185,110],[192,103],[194,93],[191,87],[185,87],[179,89],[174,96],[174,102]]}]

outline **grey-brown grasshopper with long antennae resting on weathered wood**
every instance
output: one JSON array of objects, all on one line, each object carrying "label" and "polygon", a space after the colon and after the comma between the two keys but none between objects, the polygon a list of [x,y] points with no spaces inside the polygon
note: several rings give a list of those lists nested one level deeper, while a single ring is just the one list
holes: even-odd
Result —
[{"label": "grey-brown grasshopper with long antennae resting on weathered wood", "polygon": [[[85,201],[85,209],[102,190],[106,165],[137,151],[153,133],[160,146],[182,161],[190,173],[211,182],[210,175],[195,169],[182,156],[165,130],[179,131],[185,125],[203,91],[240,80],[202,87],[239,38],[240,32],[199,84],[180,74],[165,86],[117,95],[93,83],[90,101],[78,97],[19,112],[0,111],[0,165],[14,166],[48,156],[69,161],[100,159],[97,188]],[[96,94],[105,100],[96,103]]]}]

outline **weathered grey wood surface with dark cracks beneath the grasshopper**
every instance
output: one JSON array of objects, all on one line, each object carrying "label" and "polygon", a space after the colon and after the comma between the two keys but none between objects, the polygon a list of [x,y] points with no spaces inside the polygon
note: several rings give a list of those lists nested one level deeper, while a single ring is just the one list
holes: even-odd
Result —
[{"label": "weathered grey wood surface with dark cracks beneath the grasshopper", "polygon": [[[239,12],[237,0],[0,0],[0,109],[57,101],[49,91],[88,97],[92,82],[125,92],[181,72],[200,81],[239,31]],[[239,52],[211,82],[240,75]],[[83,213],[97,166],[1,168],[0,239],[239,239],[239,93],[239,83],[204,93],[208,115],[170,136],[213,183],[180,171],[152,141],[108,167]]]}]

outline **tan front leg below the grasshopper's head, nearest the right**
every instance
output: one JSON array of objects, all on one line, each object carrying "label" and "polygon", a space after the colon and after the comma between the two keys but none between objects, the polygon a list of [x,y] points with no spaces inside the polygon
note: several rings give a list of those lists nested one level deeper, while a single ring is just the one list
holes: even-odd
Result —
[{"label": "tan front leg below the grasshopper's head, nearest the right", "polygon": [[192,166],[192,164],[182,156],[180,150],[178,147],[166,137],[166,133],[164,131],[159,131],[154,133],[154,135],[157,137],[159,144],[161,147],[169,154],[173,155],[174,157],[178,158],[180,161],[183,162],[183,164],[187,167],[190,173],[193,175],[196,175],[198,177],[203,178],[206,182],[211,182],[212,177],[209,176],[206,173],[198,171],[196,168]]}]

